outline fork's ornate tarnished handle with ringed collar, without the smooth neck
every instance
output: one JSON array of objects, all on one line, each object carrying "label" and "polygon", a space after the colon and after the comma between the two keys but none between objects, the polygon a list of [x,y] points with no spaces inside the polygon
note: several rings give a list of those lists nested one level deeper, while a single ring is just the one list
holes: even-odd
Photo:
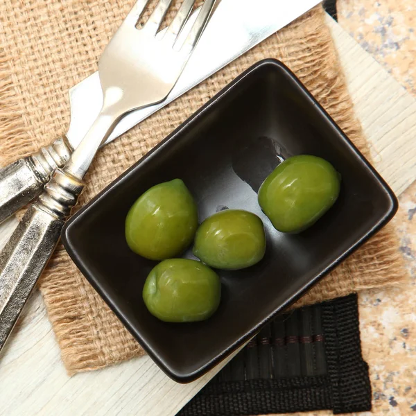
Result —
[{"label": "fork's ornate tarnished handle with ringed collar, without the smooth neck", "polygon": [[60,239],[84,185],[60,168],[0,253],[0,351]]}]

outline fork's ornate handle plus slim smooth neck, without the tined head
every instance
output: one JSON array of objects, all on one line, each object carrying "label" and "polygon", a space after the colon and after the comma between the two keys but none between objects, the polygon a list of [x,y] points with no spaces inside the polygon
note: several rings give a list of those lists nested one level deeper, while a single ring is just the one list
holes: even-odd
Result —
[{"label": "fork's ornate handle plus slim smooth neck, without the tined head", "polygon": [[71,214],[83,177],[119,115],[101,111],[65,166],[56,168],[0,253],[0,351],[35,287]]}]

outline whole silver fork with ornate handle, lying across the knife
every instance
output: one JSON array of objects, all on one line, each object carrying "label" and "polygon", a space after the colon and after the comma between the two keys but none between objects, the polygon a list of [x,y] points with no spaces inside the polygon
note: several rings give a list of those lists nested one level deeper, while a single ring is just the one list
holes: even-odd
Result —
[{"label": "whole silver fork with ornate handle, lying across the knife", "polygon": [[64,168],[22,218],[0,253],[0,351],[60,238],[83,190],[83,177],[121,117],[158,103],[175,85],[204,31],[215,0],[205,0],[184,42],[181,31],[194,0],[184,0],[172,23],[157,35],[172,0],[159,0],[143,28],[136,24],[148,0],[138,0],[98,61],[103,108]]}]

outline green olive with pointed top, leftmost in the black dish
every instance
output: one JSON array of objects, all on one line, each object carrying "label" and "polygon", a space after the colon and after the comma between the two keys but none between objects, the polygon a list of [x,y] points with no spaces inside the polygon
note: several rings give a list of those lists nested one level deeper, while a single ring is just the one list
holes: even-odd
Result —
[{"label": "green olive with pointed top, leftmost in the black dish", "polygon": [[146,259],[175,257],[190,244],[198,227],[198,209],[180,179],[148,189],[125,218],[128,246]]}]

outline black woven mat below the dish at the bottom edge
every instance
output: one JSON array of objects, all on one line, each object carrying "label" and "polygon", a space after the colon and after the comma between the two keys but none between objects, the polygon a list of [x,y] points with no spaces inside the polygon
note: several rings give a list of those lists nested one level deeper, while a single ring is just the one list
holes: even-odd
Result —
[{"label": "black woven mat below the dish at the bottom edge", "polygon": [[357,295],[297,309],[268,324],[177,416],[371,410]]}]

